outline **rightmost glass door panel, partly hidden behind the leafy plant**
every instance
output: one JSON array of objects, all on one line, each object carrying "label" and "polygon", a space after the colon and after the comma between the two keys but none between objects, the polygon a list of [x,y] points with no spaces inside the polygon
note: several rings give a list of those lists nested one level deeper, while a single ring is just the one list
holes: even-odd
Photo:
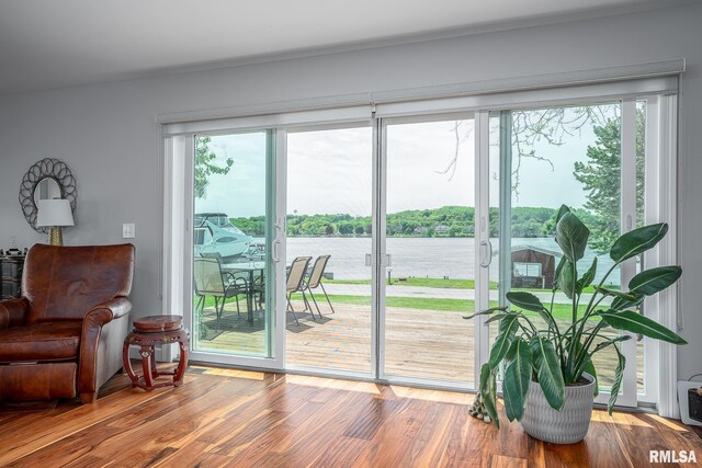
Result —
[{"label": "rightmost glass door panel, partly hidden behind the leafy plant", "polygon": [[[499,153],[500,178],[490,183],[502,191],[500,218],[499,297],[508,290],[528,290],[544,304],[552,300],[555,266],[561,260],[556,243],[555,215],[568,205],[590,228],[585,258],[578,262],[580,277],[598,262],[593,284],[599,284],[612,266],[609,247],[620,236],[622,222],[622,104],[578,107],[548,107],[506,111],[490,118],[490,155]],[[491,158],[492,159],[492,158]],[[491,189],[492,190],[492,189]],[[503,215],[503,216],[500,216]],[[505,252],[509,251],[509,255]],[[615,267],[603,286],[622,288],[621,267]],[[582,294],[584,310],[595,293]],[[561,292],[554,299],[554,316],[561,330],[570,324],[571,301]],[[503,300],[503,299],[502,299]],[[611,300],[603,300],[607,307]],[[525,312],[539,327],[547,328],[533,312]],[[595,320],[593,320],[593,323]],[[491,327],[492,341],[497,327]],[[616,330],[604,333],[619,335]],[[597,343],[596,343],[597,344]],[[631,355],[635,345],[625,343],[622,352]],[[635,352],[627,359],[635,368]],[[602,392],[610,391],[618,363],[610,346],[593,357]],[[632,378],[633,373],[629,374]],[[620,397],[620,403],[635,403],[635,395]]]}]

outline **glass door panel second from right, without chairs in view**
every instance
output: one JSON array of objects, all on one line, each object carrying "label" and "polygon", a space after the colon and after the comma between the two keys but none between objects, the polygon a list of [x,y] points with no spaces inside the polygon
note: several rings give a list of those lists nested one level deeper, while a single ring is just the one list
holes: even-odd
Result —
[{"label": "glass door panel second from right, without chairs in view", "polygon": [[382,377],[475,380],[473,118],[389,123]]}]

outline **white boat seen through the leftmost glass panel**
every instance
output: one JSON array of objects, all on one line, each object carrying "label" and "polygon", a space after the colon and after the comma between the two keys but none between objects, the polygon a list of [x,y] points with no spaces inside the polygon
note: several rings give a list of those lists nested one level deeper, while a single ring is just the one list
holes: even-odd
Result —
[{"label": "white boat seen through the leftmost glass panel", "polygon": [[216,256],[231,263],[249,251],[253,238],[229,221],[224,213],[199,213],[194,217],[195,256]]}]

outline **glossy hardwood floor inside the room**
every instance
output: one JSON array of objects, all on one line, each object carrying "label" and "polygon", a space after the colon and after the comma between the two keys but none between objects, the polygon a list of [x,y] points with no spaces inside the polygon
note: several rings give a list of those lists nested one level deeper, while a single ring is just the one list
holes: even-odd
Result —
[{"label": "glossy hardwood floor inside the room", "polygon": [[[193,367],[178,389],[115,376],[94,406],[0,413],[0,466],[643,467],[649,449],[702,441],[653,414],[596,411],[569,446],[467,414],[473,396]],[[689,465],[688,465],[689,466]]]}]

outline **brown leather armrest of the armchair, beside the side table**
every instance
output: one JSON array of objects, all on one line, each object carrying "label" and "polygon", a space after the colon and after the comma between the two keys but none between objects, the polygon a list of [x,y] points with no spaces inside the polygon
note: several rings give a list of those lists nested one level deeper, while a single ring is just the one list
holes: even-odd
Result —
[{"label": "brown leather armrest of the armchair, beside the side table", "polygon": [[[98,387],[98,355],[100,335],[103,327],[112,328],[111,322],[127,320],[132,303],[126,297],[116,297],[90,309],[83,319],[80,338],[80,357],[78,362],[78,391],[94,392]],[[120,343],[121,344],[121,343]],[[116,353],[122,358],[122,349],[103,350],[103,353]]]}]

